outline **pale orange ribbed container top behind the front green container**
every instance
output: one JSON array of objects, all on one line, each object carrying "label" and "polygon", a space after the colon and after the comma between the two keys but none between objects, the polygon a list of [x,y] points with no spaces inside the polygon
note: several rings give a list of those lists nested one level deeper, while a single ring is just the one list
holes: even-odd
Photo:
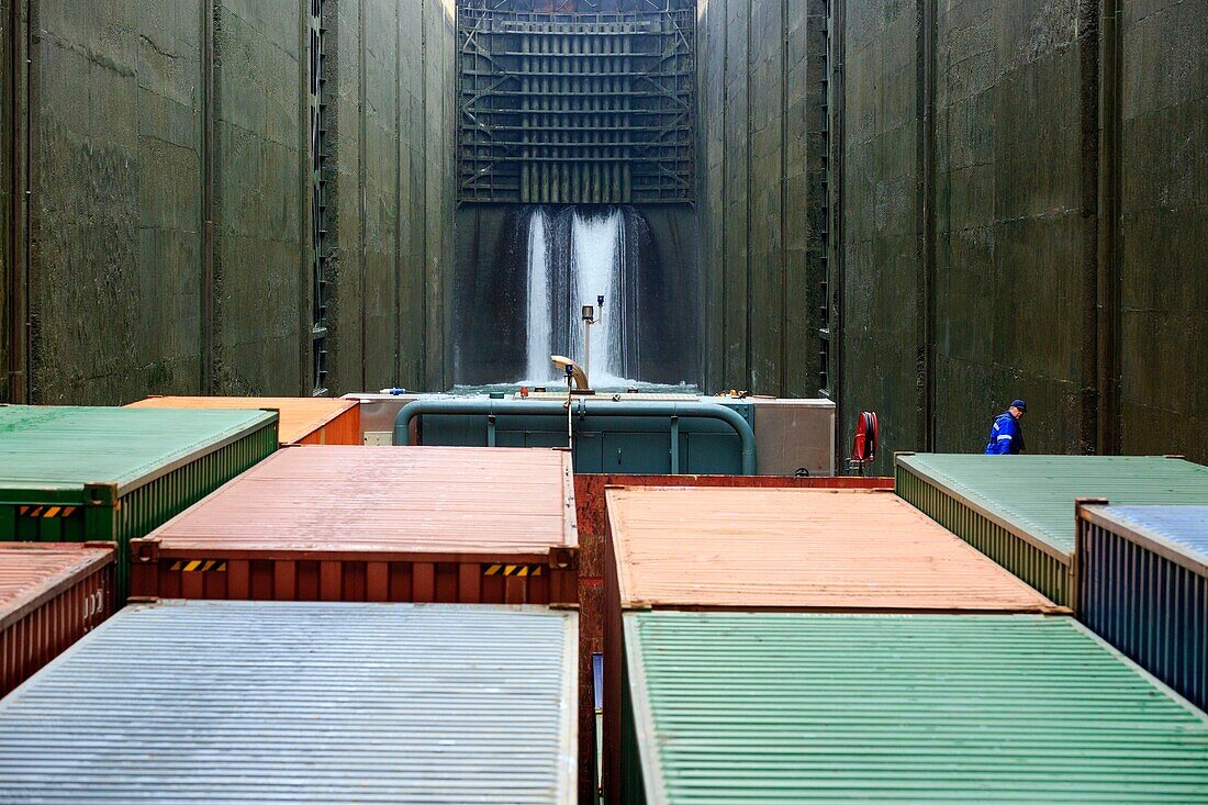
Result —
[{"label": "pale orange ribbed container top behind the front green container", "polygon": [[888,490],[606,496],[622,606],[1059,610]]}]

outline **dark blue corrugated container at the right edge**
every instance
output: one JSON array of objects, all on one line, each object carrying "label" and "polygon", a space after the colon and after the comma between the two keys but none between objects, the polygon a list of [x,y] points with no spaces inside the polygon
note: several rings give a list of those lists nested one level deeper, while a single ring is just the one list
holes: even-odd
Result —
[{"label": "dark blue corrugated container at the right edge", "polygon": [[1079,505],[1079,616],[1208,710],[1208,505],[1105,503]]}]

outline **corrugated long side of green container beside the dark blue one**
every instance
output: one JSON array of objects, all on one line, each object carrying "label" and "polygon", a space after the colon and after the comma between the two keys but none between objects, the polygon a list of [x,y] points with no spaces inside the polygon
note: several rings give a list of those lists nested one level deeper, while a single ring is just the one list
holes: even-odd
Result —
[{"label": "corrugated long side of green container beside the dark blue one", "polygon": [[[1001,517],[894,462],[898,494],[931,520],[1063,607],[1073,607],[1076,572],[1069,556],[1036,540]],[[1073,500],[1070,502],[1073,506]]]}]

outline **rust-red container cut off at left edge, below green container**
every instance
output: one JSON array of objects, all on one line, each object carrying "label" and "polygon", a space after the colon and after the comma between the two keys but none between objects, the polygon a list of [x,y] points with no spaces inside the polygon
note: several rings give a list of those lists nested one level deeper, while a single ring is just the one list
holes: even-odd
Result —
[{"label": "rust-red container cut off at left edge, below green container", "polygon": [[0,696],[114,614],[112,543],[0,544]]}]

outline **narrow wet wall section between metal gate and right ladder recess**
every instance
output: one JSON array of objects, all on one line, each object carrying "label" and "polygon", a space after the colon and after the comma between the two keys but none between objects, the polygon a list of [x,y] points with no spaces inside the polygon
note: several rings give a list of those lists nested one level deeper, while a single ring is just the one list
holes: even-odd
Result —
[{"label": "narrow wet wall section between metal gate and right ladder recess", "polygon": [[699,0],[704,383],[813,395],[821,369],[823,0]]}]

